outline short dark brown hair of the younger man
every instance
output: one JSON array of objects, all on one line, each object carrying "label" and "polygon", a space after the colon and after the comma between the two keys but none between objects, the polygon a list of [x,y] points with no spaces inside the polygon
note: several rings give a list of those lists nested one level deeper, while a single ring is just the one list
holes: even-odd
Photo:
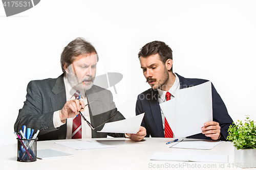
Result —
[{"label": "short dark brown hair of the younger man", "polygon": [[[172,49],[162,41],[152,41],[152,42],[148,42],[147,44],[145,44],[140,49],[138,57],[146,58],[146,57],[149,57],[149,56],[155,55],[155,54],[158,54],[160,56],[160,60],[162,61],[163,64],[165,64],[165,62],[168,59],[173,60]],[[173,71],[173,67],[170,70]]]}]

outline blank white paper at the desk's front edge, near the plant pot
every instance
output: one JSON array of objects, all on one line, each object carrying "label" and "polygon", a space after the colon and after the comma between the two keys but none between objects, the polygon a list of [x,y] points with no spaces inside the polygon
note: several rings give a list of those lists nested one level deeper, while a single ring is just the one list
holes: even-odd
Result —
[{"label": "blank white paper at the desk's front edge, near the plant pot", "polygon": [[228,162],[228,155],[156,152],[150,158],[150,160],[193,161],[193,162]]}]

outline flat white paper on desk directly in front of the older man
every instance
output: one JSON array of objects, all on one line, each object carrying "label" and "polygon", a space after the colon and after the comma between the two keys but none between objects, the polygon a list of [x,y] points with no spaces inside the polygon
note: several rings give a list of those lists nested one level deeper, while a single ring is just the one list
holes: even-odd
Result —
[{"label": "flat white paper on desk directly in front of the older man", "polygon": [[107,144],[102,144],[93,141],[67,141],[67,142],[54,142],[61,144],[65,147],[69,147],[75,150],[90,150],[90,149],[103,149],[103,148],[115,148]]}]

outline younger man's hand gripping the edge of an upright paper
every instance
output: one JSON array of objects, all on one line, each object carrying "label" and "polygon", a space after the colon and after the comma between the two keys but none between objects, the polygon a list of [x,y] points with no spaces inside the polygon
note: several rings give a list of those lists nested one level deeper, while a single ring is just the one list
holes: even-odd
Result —
[{"label": "younger man's hand gripping the edge of an upright paper", "polygon": [[202,127],[202,134],[210,137],[212,140],[218,140],[221,137],[221,127],[218,122],[207,122]]}]

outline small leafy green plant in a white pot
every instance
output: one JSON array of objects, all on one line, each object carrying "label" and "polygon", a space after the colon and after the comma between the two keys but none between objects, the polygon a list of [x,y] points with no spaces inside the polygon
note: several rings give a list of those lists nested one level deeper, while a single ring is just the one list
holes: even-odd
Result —
[{"label": "small leafy green plant in a white pot", "polygon": [[242,168],[256,167],[256,125],[246,115],[245,123],[238,120],[228,129],[227,140],[233,142],[234,165]]}]

